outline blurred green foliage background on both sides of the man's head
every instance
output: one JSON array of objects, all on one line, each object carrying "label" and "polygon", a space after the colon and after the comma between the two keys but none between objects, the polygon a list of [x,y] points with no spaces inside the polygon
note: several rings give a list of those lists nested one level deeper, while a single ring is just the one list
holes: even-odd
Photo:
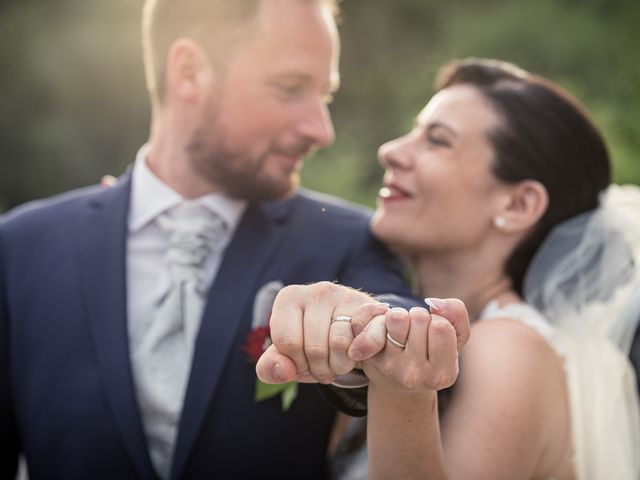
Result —
[{"label": "blurred green foliage background on both sides of the man's head", "polygon": [[[0,4],[0,211],[133,160],[149,121],[141,6]],[[410,128],[437,68],[467,56],[571,90],[605,133],[616,181],[640,183],[639,24],[637,0],[345,0],[337,140],[307,162],[303,183],[372,205],[377,147]]]}]

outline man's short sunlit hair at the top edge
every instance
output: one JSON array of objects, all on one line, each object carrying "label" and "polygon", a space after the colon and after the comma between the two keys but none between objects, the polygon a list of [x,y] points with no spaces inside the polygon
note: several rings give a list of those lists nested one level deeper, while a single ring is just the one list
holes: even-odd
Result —
[{"label": "man's short sunlit hair at the top edge", "polygon": [[[261,1],[267,0],[146,0],[142,47],[152,101],[164,100],[167,53],[176,39],[193,38],[206,48],[211,61],[224,65],[251,33]],[[304,1],[322,1],[338,15],[339,0]]]}]

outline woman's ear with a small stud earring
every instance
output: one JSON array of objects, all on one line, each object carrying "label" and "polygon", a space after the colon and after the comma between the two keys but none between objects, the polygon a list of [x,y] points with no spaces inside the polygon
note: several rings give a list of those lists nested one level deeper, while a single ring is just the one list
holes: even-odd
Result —
[{"label": "woman's ear with a small stud earring", "polygon": [[547,211],[549,194],[536,180],[523,180],[511,187],[494,225],[504,232],[521,232],[533,227]]}]

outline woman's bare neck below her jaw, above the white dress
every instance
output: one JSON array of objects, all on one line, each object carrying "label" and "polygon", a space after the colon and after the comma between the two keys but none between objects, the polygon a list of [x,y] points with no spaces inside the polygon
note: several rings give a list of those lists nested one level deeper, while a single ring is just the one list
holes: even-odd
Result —
[{"label": "woman's bare neck below her jaw, above the white dress", "polygon": [[476,320],[491,300],[501,305],[521,301],[499,259],[487,262],[477,254],[422,255],[412,259],[421,295],[459,298]]}]

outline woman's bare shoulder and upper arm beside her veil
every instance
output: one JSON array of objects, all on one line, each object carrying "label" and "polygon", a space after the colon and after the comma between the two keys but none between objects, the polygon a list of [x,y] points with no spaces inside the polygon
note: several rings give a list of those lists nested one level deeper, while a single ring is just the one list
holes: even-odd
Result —
[{"label": "woman's bare shoulder and upper arm beside her veil", "polygon": [[538,476],[568,451],[568,412],[563,360],[544,336],[520,316],[473,323],[445,428],[460,436],[471,431],[486,442],[487,455],[503,452],[500,468],[528,465]]}]

